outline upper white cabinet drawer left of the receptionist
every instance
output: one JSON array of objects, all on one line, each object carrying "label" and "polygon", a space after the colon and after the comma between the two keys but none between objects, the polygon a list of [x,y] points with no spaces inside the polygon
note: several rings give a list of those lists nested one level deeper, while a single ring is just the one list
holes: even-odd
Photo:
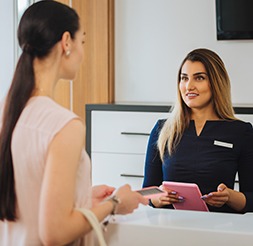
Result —
[{"label": "upper white cabinet drawer left of the receptionist", "polygon": [[92,112],[92,152],[144,154],[150,131],[169,113]]}]

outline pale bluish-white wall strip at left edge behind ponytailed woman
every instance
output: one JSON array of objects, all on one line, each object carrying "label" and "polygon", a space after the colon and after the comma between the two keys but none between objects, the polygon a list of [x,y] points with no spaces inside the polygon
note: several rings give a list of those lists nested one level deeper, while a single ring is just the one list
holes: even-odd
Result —
[{"label": "pale bluish-white wall strip at left edge behind ponytailed woman", "polygon": [[0,0],[0,100],[10,85],[15,63],[14,1]]}]

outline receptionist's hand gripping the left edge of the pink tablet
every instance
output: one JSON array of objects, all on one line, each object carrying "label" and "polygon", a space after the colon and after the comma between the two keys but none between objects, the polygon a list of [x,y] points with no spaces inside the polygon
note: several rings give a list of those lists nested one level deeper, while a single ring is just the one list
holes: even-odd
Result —
[{"label": "receptionist's hand gripping the left edge of the pink tablet", "polygon": [[166,187],[164,187],[163,185],[160,185],[159,188],[161,190],[166,191],[167,196],[160,196],[158,198],[151,199],[152,204],[156,208],[161,208],[166,205],[173,204],[173,203],[184,202],[184,198],[182,196],[179,196],[176,191],[169,190]]}]

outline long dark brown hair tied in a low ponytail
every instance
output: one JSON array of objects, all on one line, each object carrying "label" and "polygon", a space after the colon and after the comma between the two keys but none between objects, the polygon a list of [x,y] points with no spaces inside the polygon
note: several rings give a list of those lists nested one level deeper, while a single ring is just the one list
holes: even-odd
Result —
[{"label": "long dark brown hair tied in a low ponytail", "polygon": [[70,7],[50,0],[31,5],[18,27],[22,54],[8,91],[0,132],[0,220],[17,219],[14,168],[11,141],[16,123],[35,89],[33,60],[42,59],[68,31],[74,39],[79,17]]}]

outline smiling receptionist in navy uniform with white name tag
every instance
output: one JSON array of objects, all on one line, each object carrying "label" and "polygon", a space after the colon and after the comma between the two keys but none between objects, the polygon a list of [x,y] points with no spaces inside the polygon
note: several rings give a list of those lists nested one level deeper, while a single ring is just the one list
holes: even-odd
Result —
[{"label": "smiling receptionist in navy uniform with white name tag", "polygon": [[[253,130],[234,115],[223,61],[211,50],[195,49],[183,60],[177,84],[171,115],[150,135],[143,187],[196,183],[210,211],[252,212]],[[240,191],[234,190],[236,173]],[[175,191],[167,192],[150,205],[183,202]]]}]

